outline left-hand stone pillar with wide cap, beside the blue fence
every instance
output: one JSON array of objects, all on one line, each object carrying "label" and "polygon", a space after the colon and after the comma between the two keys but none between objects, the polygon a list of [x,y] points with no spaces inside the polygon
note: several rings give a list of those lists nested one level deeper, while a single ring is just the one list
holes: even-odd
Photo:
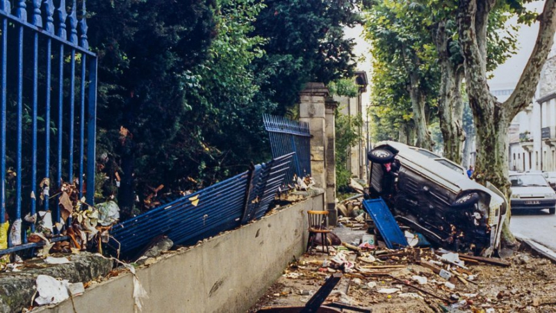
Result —
[{"label": "left-hand stone pillar with wide cap, beside the blue fence", "polygon": [[300,121],[311,130],[311,175],[316,187],[326,187],[325,172],[325,97],[329,95],[323,83],[307,83],[300,92]]}]

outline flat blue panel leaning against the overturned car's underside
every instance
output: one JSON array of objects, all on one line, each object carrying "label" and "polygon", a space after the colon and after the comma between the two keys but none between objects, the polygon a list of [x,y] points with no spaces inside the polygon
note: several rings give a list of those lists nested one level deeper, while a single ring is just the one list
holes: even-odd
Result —
[{"label": "flat blue panel leaning against the overturned car's underside", "polygon": [[407,246],[407,239],[382,198],[363,201],[363,208],[375,221],[375,226],[388,248],[397,249]]}]

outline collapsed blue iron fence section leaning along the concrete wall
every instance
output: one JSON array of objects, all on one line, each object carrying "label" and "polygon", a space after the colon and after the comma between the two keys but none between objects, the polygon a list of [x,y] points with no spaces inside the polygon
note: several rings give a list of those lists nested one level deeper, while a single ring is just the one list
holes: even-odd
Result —
[{"label": "collapsed blue iron fence section leaning along the concrete wall", "polygon": [[195,244],[259,219],[284,186],[292,157],[290,153],[252,166],[245,173],[117,224],[108,244],[122,255],[131,255],[160,235],[174,244]]}]

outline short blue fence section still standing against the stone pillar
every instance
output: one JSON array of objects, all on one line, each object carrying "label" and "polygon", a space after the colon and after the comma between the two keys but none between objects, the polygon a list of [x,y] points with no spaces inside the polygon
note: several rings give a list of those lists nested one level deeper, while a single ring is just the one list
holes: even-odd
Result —
[{"label": "short blue fence section still standing against the stone pillar", "polygon": [[274,115],[263,115],[263,122],[270,137],[273,158],[295,153],[293,167],[286,171],[286,181],[291,183],[293,174],[298,177],[311,175],[311,133],[309,132],[309,124]]}]

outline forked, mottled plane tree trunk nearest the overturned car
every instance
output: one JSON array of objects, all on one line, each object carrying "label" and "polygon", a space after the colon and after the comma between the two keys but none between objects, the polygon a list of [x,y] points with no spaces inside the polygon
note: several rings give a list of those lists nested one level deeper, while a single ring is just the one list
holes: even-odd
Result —
[{"label": "forked, mottled plane tree trunk nearest the overturned car", "polygon": [[[516,89],[500,103],[486,83],[486,23],[496,0],[459,0],[459,41],[464,54],[466,88],[475,119],[477,162],[474,177],[489,181],[509,196],[508,127],[518,112],[531,101],[541,69],[552,48],[556,31],[556,0],[546,0],[538,17],[539,35]],[[502,228],[502,244],[515,246],[509,230],[511,214]]]}]

